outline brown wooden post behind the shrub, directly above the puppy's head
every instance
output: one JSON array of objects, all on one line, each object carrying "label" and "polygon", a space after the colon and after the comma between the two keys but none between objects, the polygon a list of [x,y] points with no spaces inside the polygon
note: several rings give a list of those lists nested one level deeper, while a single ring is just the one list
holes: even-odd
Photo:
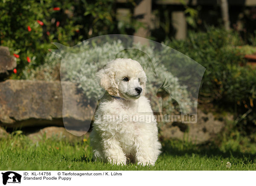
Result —
[{"label": "brown wooden post behind the shrub, directly above the puppy's head", "polygon": [[[150,22],[151,22],[151,8],[152,8],[152,0],[141,0],[139,4],[134,9],[134,17],[138,17],[137,20],[143,23],[143,27],[140,27],[137,32],[134,33],[135,36],[147,38],[150,36]],[[145,40],[141,40],[140,38],[134,38],[134,42],[141,44]]]}]

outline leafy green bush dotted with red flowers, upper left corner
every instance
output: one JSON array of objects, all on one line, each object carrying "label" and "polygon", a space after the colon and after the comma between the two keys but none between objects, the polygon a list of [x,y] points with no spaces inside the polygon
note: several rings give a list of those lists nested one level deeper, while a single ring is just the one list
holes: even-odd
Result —
[{"label": "leafy green bush dotted with red flowers, upper left corner", "polygon": [[[17,59],[18,76],[21,69],[28,64],[27,57],[31,58],[33,65],[42,64],[52,41],[58,41],[61,37],[61,42],[67,44],[75,35],[72,24],[61,23],[56,27],[57,20],[52,20],[62,11],[53,10],[59,4],[54,4],[50,0],[0,2],[0,42],[1,45],[8,46],[12,53],[20,56]],[[28,27],[31,29],[30,32]]]}]

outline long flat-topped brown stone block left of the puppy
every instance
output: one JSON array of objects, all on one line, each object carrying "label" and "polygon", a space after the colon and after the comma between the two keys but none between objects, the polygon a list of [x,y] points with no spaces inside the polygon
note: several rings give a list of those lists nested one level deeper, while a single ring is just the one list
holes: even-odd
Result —
[{"label": "long flat-topped brown stone block left of the puppy", "polygon": [[[62,112],[63,103],[70,109]],[[0,125],[23,128],[64,124],[68,130],[86,133],[94,110],[85,103],[84,94],[68,81],[3,81],[0,83]]]}]

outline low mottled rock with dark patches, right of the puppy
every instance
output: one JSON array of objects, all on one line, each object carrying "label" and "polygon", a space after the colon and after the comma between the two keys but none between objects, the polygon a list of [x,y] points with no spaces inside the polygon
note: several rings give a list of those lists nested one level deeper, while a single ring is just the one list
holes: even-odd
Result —
[{"label": "low mottled rock with dark patches, right of the puppy", "polygon": [[225,126],[212,113],[204,113],[198,109],[198,122],[195,124],[168,123],[161,127],[164,139],[188,139],[195,144],[203,144],[215,140]]}]

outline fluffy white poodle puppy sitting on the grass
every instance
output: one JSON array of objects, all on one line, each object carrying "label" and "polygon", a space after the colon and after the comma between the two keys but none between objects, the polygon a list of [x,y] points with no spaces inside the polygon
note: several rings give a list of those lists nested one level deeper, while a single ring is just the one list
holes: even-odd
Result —
[{"label": "fluffy white poodle puppy sitting on the grass", "polygon": [[160,154],[157,122],[145,97],[146,75],[132,59],[118,58],[97,73],[106,93],[95,113],[93,159],[154,165]]}]

